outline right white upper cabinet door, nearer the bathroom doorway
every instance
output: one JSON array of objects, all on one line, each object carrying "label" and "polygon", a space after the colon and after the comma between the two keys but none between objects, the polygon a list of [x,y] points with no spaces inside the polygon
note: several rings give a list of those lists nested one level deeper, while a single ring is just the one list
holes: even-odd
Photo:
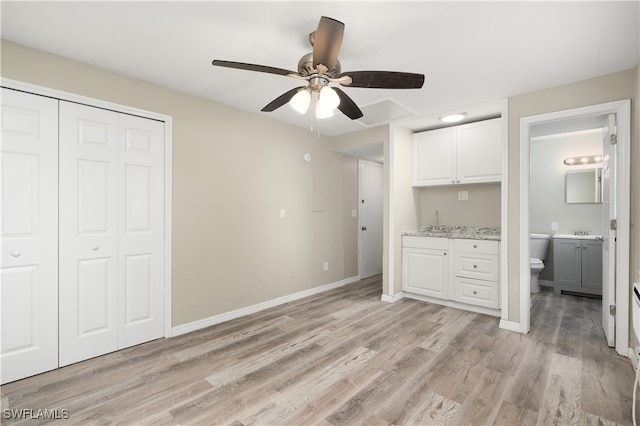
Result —
[{"label": "right white upper cabinet door, nearer the bathroom doorway", "polygon": [[499,118],[458,128],[457,183],[502,180],[502,127]]}]

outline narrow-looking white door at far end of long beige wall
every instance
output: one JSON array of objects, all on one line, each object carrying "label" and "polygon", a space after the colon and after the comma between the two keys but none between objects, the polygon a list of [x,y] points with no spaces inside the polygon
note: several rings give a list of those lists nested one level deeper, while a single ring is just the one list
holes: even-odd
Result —
[{"label": "narrow-looking white door at far end of long beige wall", "polygon": [[382,164],[358,161],[360,278],[382,273]]}]

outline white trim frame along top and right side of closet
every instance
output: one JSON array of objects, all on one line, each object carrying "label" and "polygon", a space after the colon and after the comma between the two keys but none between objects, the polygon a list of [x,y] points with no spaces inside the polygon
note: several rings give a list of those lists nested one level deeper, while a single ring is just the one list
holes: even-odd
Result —
[{"label": "white trim frame along top and right side of closet", "polygon": [[173,118],[169,115],[160,114],[153,111],[146,111],[138,108],[107,102],[100,99],[38,86],[23,81],[8,78],[0,79],[0,85],[8,89],[33,93],[35,95],[46,96],[54,99],[79,103],[92,107],[107,109],[138,117],[149,118],[163,122],[164,124],[164,337],[171,337],[171,307],[172,307],[172,282],[171,282],[171,188],[172,188],[172,151],[173,151]]}]

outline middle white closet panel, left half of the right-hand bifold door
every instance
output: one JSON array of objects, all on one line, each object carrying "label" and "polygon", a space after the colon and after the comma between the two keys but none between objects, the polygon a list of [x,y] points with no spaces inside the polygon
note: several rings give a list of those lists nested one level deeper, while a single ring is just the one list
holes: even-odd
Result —
[{"label": "middle white closet panel, left half of the right-hand bifold door", "polygon": [[117,119],[60,102],[60,366],[118,349]]}]

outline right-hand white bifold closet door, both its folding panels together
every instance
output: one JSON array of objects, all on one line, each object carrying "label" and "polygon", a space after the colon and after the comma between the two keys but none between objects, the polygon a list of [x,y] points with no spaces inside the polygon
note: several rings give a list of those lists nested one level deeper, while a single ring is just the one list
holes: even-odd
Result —
[{"label": "right-hand white bifold closet door, both its folding panels together", "polygon": [[164,126],[60,101],[60,366],[164,335]]}]

